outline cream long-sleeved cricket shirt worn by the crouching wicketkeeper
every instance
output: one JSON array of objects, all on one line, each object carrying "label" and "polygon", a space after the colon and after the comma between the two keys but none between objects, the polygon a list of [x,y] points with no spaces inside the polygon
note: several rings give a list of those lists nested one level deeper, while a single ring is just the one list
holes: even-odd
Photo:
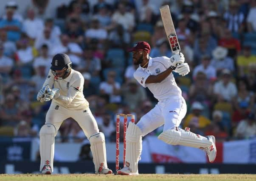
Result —
[{"label": "cream long-sleeved cricket shirt worn by the crouching wicketkeeper", "polygon": [[88,101],[84,98],[84,77],[76,70],[71,69],[70,75],[65,79],[54,78],[51,70],[43,85],[59,89],[60,96],[58,99],[53,99],[54,103],[70,110],[84,110],[89,106]]}]

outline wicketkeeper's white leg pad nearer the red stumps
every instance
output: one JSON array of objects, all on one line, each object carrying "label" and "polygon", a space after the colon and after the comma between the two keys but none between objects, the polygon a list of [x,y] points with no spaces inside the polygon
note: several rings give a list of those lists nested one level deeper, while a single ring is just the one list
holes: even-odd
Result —
[{"label": "wicketkeeper's white leg pad nearer the red stumps", "polygon": [[90,148],[93,153],[93,163],[95,171],[98,172],[99,167],[103,163],[103,167],[107,168],[107,155],[105,146],[105,136],[103,133],[96,133],[90,136]]}]

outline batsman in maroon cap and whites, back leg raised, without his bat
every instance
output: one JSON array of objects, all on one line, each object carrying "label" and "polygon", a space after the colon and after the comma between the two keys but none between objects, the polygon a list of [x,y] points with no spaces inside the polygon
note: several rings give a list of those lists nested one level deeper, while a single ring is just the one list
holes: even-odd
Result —
[{"label": "batsman in maroon cap and whites, back leg raised, without his bat", "polygon": [[171,58],[149,57],[150,46],[147,42],[137,42],[131,49],[133,64],[138,65],[134,77],[143,87],[148,87],[157,105],[146,113],[137,124],[129,122],[126,132],[125,167],[117,171],[119,175],[138,175],[138,161],[142,151],[142,136],[164,125],[158,139],[169,145],[184,145],[205,150],[210,162],[216,158],[217,150],[214,136],[200,136],[179,128],[186,115],[186,101],[181,95],[172,72],[188,74],[189,66],[184,63],[182,53]]}]

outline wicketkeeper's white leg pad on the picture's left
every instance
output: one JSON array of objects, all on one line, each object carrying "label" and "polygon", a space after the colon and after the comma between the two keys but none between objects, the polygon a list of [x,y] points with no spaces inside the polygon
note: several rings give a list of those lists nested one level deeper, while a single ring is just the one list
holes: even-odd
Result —
[{"label": "wicketkeeper's white leg pad on the picture's left", "polygon": [[56,128],[52,124],[45,124],[40,129],[40,171],[44,165],[51,166],[51,172],[53,172],[53,156],[54,156],[54,137],[56,134]]}]

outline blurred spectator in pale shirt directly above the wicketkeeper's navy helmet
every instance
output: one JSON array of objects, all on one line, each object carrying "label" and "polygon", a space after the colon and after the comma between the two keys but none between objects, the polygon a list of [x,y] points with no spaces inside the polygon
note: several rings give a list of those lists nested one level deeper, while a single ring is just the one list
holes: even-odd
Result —
[{"label": "blurred spectator in pale shirt directly above the wicketkeeper's navy helmet", "polygon": [[57,53],[66,53],[72,60],[72,67],[80,65],[82,48],[74,42],[70,42],[70,38],[66,34],[61,35],[61,44],[55,45],[50,52],[51,56]]}]

